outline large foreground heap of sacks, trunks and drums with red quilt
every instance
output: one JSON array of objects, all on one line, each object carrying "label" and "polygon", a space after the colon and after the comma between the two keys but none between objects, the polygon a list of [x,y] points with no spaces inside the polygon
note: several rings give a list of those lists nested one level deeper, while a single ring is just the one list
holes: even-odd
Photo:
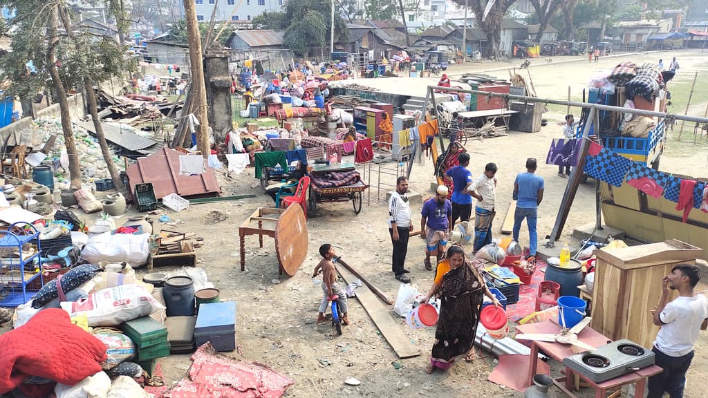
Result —
[{"label": "large foreground heap of sacks, trunks and drums with red quilt", "polygon": [[[67,253],[37,257],[45,284],[17,307],[13,330],[0,336],[0,394],[147,398],[209,390],[250,397],[245,392],[253,387],[279,397],[292,385],[263,365],[217,354],[236,347],[236,302],[220,302],[201,268],[139,279],[131,264],[142,266],[152,244],[149,233],[139,234],[142,227],[135,234],[106,231],[83,244],[69,239]],[[195,350],[190,373],[171,390],[159,389],[158,358]],[[248,388],[215,383],[216,370],[244,378],[241,387]]]}]

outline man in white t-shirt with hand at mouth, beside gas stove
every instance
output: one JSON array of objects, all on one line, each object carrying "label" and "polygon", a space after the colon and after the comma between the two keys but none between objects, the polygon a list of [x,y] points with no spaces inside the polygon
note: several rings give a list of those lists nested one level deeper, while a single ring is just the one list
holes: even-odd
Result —
[{"label": "man in white t-shirt with hand at mouth, beside gas stove", "polygon": [[[651,351],[663,373],[649,377],[648,398],[661,398],[664,392],[671,398],[683,397],[693,345],[708,326],[708,299],[694,290],[700,278],[698,267],[690,264],[673,267],[663,278],[661,298],[651,312],[654,324],[661,326]],[[667,303],[669,289],[678,290],[679,296]]]}]

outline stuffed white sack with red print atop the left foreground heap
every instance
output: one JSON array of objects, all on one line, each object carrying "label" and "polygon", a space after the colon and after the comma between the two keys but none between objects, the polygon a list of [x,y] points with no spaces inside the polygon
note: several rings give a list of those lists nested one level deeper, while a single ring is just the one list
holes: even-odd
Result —
[{"label": "stuffed white sack with red print atop the left foreground heap", "polygon": [[141,285],[121,285],[98,290],[85,300],[62,302],[62,309],[72,317],[85,314],[89,326],[118,326],[165,307]]}]

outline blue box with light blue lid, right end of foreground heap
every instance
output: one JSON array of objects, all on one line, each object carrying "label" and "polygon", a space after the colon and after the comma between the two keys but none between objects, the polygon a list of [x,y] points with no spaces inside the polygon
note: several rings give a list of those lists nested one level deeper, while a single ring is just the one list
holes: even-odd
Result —
[{"label": "blue box with light blue lid, right end of foreground heap", "polygon": [[236,302],[200,305],[194,329],[196,346],[210,341],[216,351],[236,349]]}]

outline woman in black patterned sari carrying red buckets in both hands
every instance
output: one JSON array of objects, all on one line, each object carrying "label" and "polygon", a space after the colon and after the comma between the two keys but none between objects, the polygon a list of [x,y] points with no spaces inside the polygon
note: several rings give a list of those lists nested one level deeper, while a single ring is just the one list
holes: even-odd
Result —
[{"label": "woman in black patterned sari carrying red buckets in both hands", "polygon": [[483,296],[489,297],[495,307],[501,307],[460,246],[447,249],[446,258],[438,263],[435,282],[423,302],[428,302],[435,293],[439,293],[441,299],[440,315],[426,373],[433,373],[435,368],[450,368],[458,356],[464,355],[465,360],[472,360],[474,353],[470,351]]}]

